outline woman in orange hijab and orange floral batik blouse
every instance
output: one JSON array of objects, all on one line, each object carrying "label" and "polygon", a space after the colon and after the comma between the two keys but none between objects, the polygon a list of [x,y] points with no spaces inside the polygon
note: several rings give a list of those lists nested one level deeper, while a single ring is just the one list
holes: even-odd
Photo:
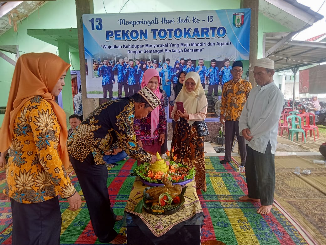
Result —
[{"label": "woman in orange hijab and orange floral batik blouse", "polygon": [[60,244],[58,194],[72,211],[82,203],[67,177],[66,114],[55,102],[69,67],[50,53],[17,60],[0,131],[0,151],[10,146],[4,193],[10,197],[16,245]]}]

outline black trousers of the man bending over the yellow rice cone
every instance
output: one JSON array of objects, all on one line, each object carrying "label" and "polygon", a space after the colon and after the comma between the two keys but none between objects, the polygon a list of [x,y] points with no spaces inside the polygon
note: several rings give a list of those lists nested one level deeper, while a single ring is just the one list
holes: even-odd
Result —
[{"label": "black trousers of the man bending over the yellow rice cone", "polygon": [[96,165],[92,153],[83,162],[73,157],[70,161],[81,185],[95,235],[100,242],[109,243],[118,234],[113,229],[116,215],[107,187],[108,169],[105,164]]}]

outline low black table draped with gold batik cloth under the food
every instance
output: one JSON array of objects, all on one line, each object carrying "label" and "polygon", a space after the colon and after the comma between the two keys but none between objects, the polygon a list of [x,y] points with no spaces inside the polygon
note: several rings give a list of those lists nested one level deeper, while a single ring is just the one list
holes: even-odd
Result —
[{"label": "low black table draped with gold batik cloth under the food", "polygon": [[[153,215],[144,210],[134,212],[142,198],[146,185],[136,177],[125,208],[123,227],[127,229],[127,244],[130,245],[181,245],[200,244],[204,213],[198,199],[195,181],[186,184],[184,206],[172,215]],[[138,193],[138,194],[137,194]]]}]

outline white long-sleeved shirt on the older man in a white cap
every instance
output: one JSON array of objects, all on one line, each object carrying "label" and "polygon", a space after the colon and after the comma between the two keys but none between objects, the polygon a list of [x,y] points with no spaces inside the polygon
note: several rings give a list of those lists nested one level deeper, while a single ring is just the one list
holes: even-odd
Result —
[{"label": "white long-sleeved shirt on the older man in a white cap", "polygon": [[277,144],[278,120],[284,104],[284,95],[274,81],[263,87],[253,88],[245,103],[239,120],[239,131],[249,128],[250,141],[248,146],[258,152],[265,153],[268,141],[275,154]]}]

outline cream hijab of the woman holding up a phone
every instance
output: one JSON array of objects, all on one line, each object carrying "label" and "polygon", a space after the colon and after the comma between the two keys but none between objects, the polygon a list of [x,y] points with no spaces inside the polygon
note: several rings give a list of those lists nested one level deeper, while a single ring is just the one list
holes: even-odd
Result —
[{"label": "cream hijab of the woman holding up a phone", "polygon": [[[185,88],[185,83],[189,78],[192,78],[196,83],[195,89],[191,92],[188,92]],[[200,84],[200,76],[197,72],[187,73],[185,76],[185,82],[175,101],[182,101],[188,114],[196,114],[207,106],[206,94]],[[193,123],[194,121],[189,121],[190,125]]]}]

